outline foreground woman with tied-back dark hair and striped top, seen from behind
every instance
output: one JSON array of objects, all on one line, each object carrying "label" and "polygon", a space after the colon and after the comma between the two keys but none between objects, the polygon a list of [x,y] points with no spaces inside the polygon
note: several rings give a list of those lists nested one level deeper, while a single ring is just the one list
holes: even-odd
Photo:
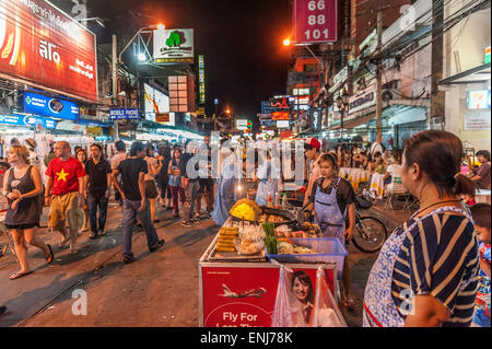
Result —
[{"label": "foreground woman with tied-back dark hair and striped top, seen from behind", "polygon": [[401,179],[421,208],[388,237],[364,294],[364,326],[469,326],[478,288],[478,241],[459,195],[461,141],[422,131],[406,141]]}]

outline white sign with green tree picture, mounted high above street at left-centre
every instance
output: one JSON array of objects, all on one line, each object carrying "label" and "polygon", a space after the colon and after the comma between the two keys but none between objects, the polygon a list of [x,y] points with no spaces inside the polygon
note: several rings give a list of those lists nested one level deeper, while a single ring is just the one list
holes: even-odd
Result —
[{"label": "white sign with green tree picture, mounted high above street at left-centre", "polygon": [[194,30],[156,30],[154,31],[155,63],[192,63]]}]

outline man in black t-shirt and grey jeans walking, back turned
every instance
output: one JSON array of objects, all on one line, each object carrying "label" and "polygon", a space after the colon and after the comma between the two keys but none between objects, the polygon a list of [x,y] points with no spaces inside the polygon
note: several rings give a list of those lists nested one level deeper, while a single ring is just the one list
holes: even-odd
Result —
[{"label": "man in black t-shirt and grey jeans walking, back turned", "polygon": [[[145,158],[143,143],[133,142],[130,158],[124,160],[113,172],[115,187],[124,200],[121,210],[124,217],[122,257],[125,264],[136,260],[131,253],[131,239],[137,217],[139,217],[145,230],[149,251],[155,252],[164,245],[164,240],[159,240],[155,226],[151,221],[150,202],[145,198],[144,176],[148,168],[143,158]],[[116,179],[119,174],[121,174],[121,185]]]}]

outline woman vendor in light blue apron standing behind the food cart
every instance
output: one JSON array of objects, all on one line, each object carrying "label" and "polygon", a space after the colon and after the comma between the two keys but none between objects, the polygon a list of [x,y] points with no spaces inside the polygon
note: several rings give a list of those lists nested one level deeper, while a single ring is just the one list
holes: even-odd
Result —
[{"label": "woman vendor in light blue apron standing behind the food cart", "polygon": [[[342,245],[349,247],[352,231],[355,225],[355,194],[352,185],[339,176],[337,159],[332,154],[323,154],[318,160],[321,177],[318,178],[311,191],[308,210],[313,210],[315,223],[319,225],[325,237],[336,237]],[[345,218],[349,226],[345,230]],[[345,241],[347,237],[347,241]],[[345,256],[342,271],[342,305],[353,306],[350,293],[349,256]]]}]

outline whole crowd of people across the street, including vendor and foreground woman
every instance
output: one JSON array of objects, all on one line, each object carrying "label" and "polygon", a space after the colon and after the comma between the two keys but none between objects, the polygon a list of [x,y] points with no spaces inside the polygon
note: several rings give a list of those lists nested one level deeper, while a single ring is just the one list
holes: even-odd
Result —
[{"label": "whole crowd of people across the street, including vendor and foreground woman", "polygon": [[[21,264],[11,280],[32,272],[27,245],[42,249],[48,264],[54,261],[52,246],[36,234],[44,206],[49,207],[49,230],[60,235],[58,246],[70,246],[70,253],[77,254],[80,232],[90,230],[92,240],[105,235],[113,188],[122,211],[122,260],[129,264],[136,260],[131,252],[136,224],[145,231],[151,253],[164,245],[154,225],[159,205],[172,209],[173,218],[185,228],[209,218],[222,225],[242,193],[260,206],[278,202],[284,178],[276,175],[281,168],[267,151],[256,159],[248,186],[246,155],[230,148],[220,149],[219,176],[213,178],[209,136],[184,147],[136,141],[129,152],[118,141],[117,153],[110,156],[97,143],[87,154],[84,149],[72,152],[68,142],[60,141],[47,162],[36,160],[35,144],[27,146],[34,148],[14,144],[9,149],[10,168],[3,178],[9,205],[4,224],[12,232]],[[311,138],[304,149],[306,181],[301,201],[306,219],[313,219],[324,236],[338,239],[347,247],[355,226],[356,194],[340,176],[341,167],[382,174],[388,185],[401,178],[420,202],[410,220],[389,236],[373,266],[363,304],[365,326],[468,326],[472,319],[483,325],[487,316],[490,326],[490,205],[478,203],[470,211],[462,201],[472,198],[476,188],[490,190],[488,151],[477,152],[480,166],[476,166],[464,155],[460,140],[444,131],[415,133],[405,142],[405,151],[387,150],[380,138],[365,149],[340,146],[326,152]],[[190,162],[197,154],[204,161]],[[227,161],[231,156],[238,161]],[[39,163],[46,167],[44,174]],[[243,176],[231,175],[237,173]],[[348,257],[341,281],[341,305],[352,307]],[[479,288],[489,290],[489,303],[481,313],[473,312]],[[406,303],[409,291],[411,306]]]}]

